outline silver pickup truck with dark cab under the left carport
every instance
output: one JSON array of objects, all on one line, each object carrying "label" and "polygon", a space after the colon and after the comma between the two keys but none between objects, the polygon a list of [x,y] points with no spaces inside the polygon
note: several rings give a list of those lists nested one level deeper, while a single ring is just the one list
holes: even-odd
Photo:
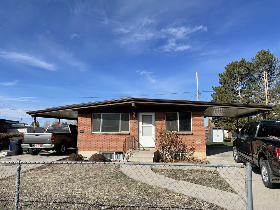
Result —
[{"label": "silver pickup truck with dark cab under the left carport", "polygon": [[49,125],[45,133],[25,133],[22,148],[29,148],[31,155],[38,155],[41,150],[56,150],[63,155],[67,148],[77,147],[78,126]]}]

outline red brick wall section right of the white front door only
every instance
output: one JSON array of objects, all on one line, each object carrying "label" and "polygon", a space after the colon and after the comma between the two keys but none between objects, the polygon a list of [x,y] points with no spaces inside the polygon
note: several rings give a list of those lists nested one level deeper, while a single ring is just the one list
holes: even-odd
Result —
[{"label": "red brick wall section right of the white front door only", "polygon": [[[157,131],[160,131],[165,126],[165,113],[155,113],[156,136]],[[192,132],[179,133],[187,146],[187,149],[193,147],[195,152],[206,152],[205,148],[205,131],[204,131],[204,113],[202,111],[192,112]],[[156,143],[157,148],[157,143]]]}]

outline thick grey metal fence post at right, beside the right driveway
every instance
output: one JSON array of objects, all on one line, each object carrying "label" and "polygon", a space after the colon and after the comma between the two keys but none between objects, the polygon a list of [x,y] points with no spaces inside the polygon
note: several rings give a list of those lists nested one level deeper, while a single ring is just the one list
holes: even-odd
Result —
[{"label": "thick grey metal fence post at right, beside the right driveway", "polygon": [[246,210],[253,210],[252,164],[246,162]]}]

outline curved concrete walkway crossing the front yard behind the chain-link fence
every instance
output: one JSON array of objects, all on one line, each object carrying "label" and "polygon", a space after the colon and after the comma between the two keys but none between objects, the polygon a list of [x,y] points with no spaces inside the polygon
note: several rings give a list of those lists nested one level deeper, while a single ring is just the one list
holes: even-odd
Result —
[{"label": "curved concrete walkway crossing the front yard behind the chain-link fence", "polygon": [[142,183],[196,197],[225,209],[246,209],[246,202],[238,194],[161,176],[153,172],[150,165],[120,165],[120,171]]}]

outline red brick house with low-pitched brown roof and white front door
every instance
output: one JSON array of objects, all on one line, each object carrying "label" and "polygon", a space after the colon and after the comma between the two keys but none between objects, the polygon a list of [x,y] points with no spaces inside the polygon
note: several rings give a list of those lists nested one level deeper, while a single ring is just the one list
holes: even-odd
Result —
[{"label": "red brick house with low-pitched brown roof and white front door", "polygon": [[157,149],[158,131],[179,132],[195,158],[205,158],[204,118],[239,117],[271,110],[274,106],[205,101],[124,98],[74,104],[27,112],[33,117],[78,120],[78,153],[90,157],[102,153],[122,159],[126,137],[139,147]]}]

